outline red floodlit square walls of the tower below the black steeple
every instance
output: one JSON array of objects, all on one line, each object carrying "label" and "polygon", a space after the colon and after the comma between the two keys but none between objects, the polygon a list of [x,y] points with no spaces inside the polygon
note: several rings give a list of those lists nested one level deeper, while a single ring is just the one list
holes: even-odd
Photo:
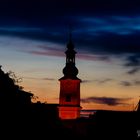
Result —
[{"label": "red floodlit square walls of the tower below the black steeple", "polygon": [[80,117],[80,82],[79,79],[60,80],[59,117],[61,119]]}]

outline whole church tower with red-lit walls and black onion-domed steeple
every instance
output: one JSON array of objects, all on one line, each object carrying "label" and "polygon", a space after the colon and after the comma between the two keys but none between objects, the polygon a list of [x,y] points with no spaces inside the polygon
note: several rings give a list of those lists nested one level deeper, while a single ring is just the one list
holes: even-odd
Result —
[{"label": "whole church tower with red-lit walls and black onion-domed steeple", "polygon": [[67,44],[66,65],[63,69],[64,76],[60,81],[59,117],[60,119],[77,119],[80,117],[80,82],[77,78],[78,69],[75,66],[74,44],[69,36]]}]

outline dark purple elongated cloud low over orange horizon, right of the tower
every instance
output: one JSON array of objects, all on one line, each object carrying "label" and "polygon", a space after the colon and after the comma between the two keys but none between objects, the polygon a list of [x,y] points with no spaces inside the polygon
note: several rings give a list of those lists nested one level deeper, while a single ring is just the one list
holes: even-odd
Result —
[{"label": "dark purple elongated cloud low over orange horizon, right of the tower", "polygon": [[97,104],[107,104],[111,106],[126,104],[125,101],[131,98],[113,98],[113,97],[88,97],[81,99],[82,103],[97,103]]}]

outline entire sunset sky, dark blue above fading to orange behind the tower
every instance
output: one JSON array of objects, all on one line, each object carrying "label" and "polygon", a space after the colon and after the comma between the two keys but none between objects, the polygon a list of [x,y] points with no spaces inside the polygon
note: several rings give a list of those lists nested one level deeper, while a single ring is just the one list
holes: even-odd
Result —
[{"label": "entire sunset sky, dark blue above fading to orange behind the tower", "polygon": [[1,0],[0,65],[58,103],[69,27],[83,109],[132,110],[140,96],[139,0]]}]

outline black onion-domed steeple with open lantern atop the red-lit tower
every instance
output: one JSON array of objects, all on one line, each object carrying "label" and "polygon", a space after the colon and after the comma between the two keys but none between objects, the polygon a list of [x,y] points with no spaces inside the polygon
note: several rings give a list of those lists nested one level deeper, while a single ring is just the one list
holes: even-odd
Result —
[{"label": "black onion-domed steeple with open lantern atop the red-lit tower", "polygon": [[78,79],[78,69],[75,66],[75,55],[76,51],[74,50],[74,44],[72,42],[72,35],[69,35],[69,41],[67,43],[67,50],[65,51],[66,54],[66,66],[63,69],[64,77],[63,79]]}]

